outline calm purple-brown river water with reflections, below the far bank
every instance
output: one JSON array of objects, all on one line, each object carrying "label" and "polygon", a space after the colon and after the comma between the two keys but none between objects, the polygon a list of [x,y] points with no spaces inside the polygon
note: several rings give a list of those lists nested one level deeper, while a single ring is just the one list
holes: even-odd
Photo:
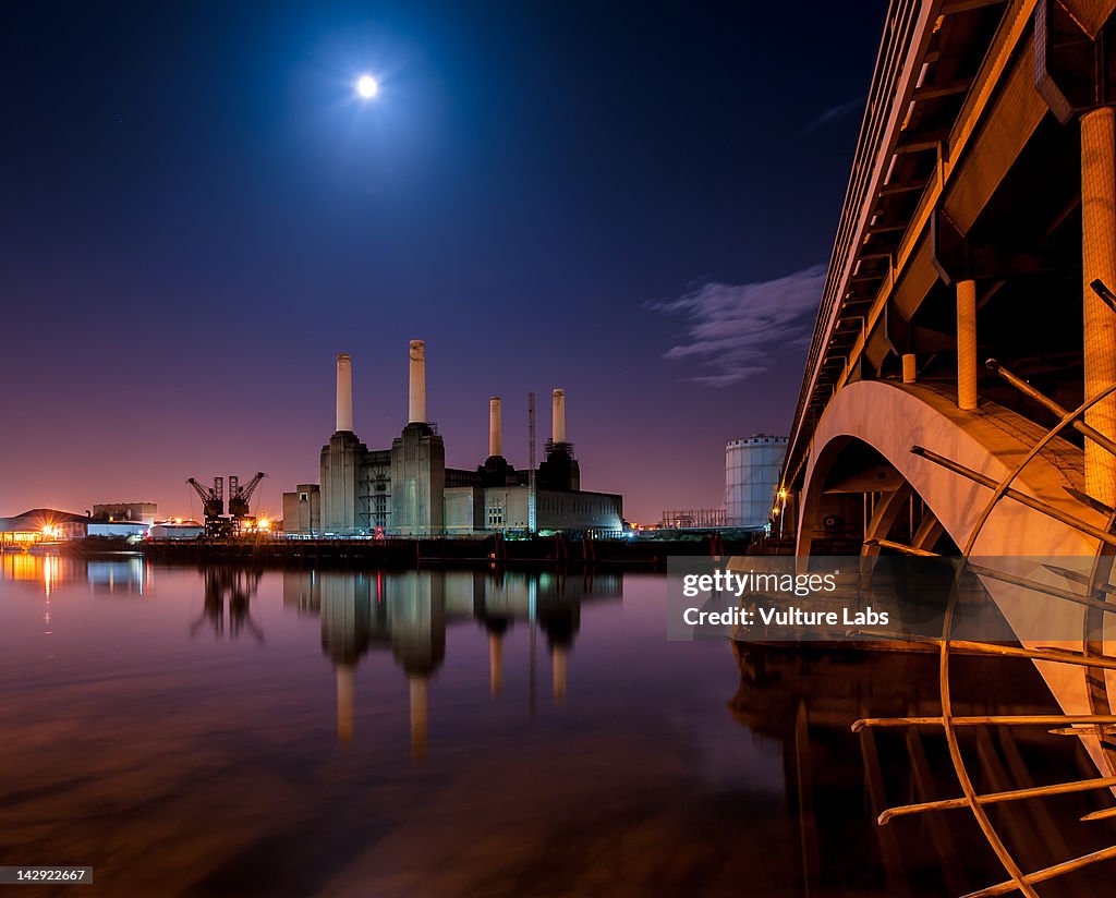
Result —
[{"label": "calm purple-brown river water with reflections, below the far bank", "polygon": [[[665,640],[655,576],[0,566],[0,865],[95,868],[77,892],[20,895],[889,896],[1003,878],[968,812],[874,823],[916,788],[956,793],[932,734],[915,751],[848,726],[932,712],[933,659],[738,664],[724,643]],[[1033,679],[1012,667],[999,695],[1045,707]],[[912,774],[920,756],[937,786]],[[1049,848],[1036,832],[1020,850]]]}]

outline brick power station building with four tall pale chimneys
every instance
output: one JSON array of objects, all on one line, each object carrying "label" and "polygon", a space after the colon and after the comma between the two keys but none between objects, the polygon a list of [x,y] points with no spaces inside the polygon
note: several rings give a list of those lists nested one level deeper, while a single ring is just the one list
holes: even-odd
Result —
[{"label": "brick power station building with four tall pale chimneys", "polygon": [[620,495],[581,490],[574,444],[566,438],[564,389],[554,390],[551,435],[533,477],[503,455],[499,396],[489,402],[488,458],[475,470],[453,469],[445,466],[445,444],[426,417],[422,340],[411,341],[408,365],[407,423],[391,448],[375,450],[354,432],[352,359],[348,354],[337,357],[337,429],[321,447],[320,512],[316,520],[307,508],[316,499],[312,484],[285,493],[287,533],[440,537],[548,530],[604,534],[623,529]]}]

